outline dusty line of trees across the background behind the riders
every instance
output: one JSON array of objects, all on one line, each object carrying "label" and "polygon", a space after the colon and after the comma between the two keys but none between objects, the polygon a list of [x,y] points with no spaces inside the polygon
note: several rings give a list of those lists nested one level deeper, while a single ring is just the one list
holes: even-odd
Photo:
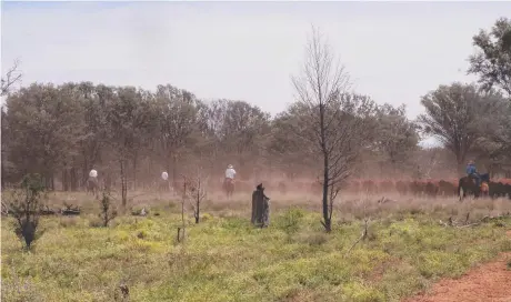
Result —
[{"label": "dusty line of trees across the background behind the riders", "polygon": [[[106,183],[137,189],[162,171],[172,180],[199,168],[221,178],[229,163],[241,179],[320,175],[332,185],[353,173],[424,177],[432,161],[439,173],[459,173],[468,158],[498,171],[511,163],[510,32],[511,20],[501,18],[475,34],[468,72],[479,83],[425,93],[425,113],[417,120],[407,118],[404,104],[378,104],[352,91],[348,71],[315,29],[303,72],[293,77],[298,98],[275,117],[240,100],[200,100],[171,84],[150,91],[84,81],[10,91],[19,78],[9,73],[2,78],[2,187],[37,172],[50,189],[78,190],[94,168]],[[443,147],[420,148],[428,135]]]}]

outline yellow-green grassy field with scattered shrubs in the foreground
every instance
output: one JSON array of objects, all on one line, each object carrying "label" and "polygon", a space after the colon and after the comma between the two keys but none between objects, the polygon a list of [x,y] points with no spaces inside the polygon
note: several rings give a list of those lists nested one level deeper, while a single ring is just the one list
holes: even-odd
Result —
[{"label": "yellow-green grassy field with scattered shrubs in the foreground", "polygon": [[[274,200],[268,229],[250,225],[248,199],[208,201],[199,224],[187,214],[187,238],[178,243],[178,202],[141,197],[131,202],[148,207],[148,217],[98,228],[99,202],[54,194],[52,203],[80,203],[84,213],[44,218],[30,252],[2,219],[2,301],[116,301],[121,283],[130,301],[399,301],[511,250],[509,218],[468,228],[440,223],[507,213],[508,200],[344,198],[330,234],[322,232],[319,202]],[[363,218],[369,234],[348,253]]]}]

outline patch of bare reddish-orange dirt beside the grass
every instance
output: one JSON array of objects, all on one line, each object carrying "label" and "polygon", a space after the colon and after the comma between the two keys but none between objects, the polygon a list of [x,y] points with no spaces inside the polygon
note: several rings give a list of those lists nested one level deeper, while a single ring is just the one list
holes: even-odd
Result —
[{"label": "patch of bare reddish-orange dirt beside the grass", "polygon": [[[511,231],[508,231],[511,240]],[[511,302],[511,253],[500,254],[487,264],[472,269],[457,280],[442,280],[428,293],[418,294],[405,302]]]}]

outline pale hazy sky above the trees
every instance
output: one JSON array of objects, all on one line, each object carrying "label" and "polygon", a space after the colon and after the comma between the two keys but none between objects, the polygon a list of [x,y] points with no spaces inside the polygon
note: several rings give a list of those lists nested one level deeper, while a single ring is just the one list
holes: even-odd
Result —
[{"label": "pale hazy sky above the trees", "polygon": [[2,2],[2,74],[19,58],[23,84],[171,83],[274,114],[313,23],[358,92],[414,118],[428,91],[475,80],[472,36],[504,13],[511,2]]}]

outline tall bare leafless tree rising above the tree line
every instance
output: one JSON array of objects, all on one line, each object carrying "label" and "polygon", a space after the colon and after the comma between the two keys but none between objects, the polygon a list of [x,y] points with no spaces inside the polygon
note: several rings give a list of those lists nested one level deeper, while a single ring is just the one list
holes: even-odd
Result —
[{"label": "tall bare leafless tree rising above the tree line", "polygon": [[313,147],[322,158],[322,208],[327,232],[332,229],[333,201],[342,181],[349,175],[360,150],[360,140],[373,103],[364,97],[349,93],[350,80],[344,67],[335,60],[318,29],[305,47],[305,62],[300,77],[293,77],[298,103],[294,133]]}]

